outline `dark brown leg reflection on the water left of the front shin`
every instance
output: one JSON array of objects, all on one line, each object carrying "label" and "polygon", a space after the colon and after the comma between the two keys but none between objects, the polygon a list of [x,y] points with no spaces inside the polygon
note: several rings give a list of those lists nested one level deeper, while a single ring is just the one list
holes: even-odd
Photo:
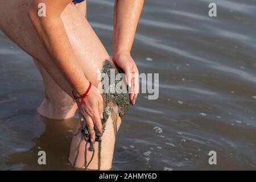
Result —
[{"label": "dark brown leg reflection on the water left of the front shin", "polygon": [[[65,119],[63,121],[36,118],[44,123],[45,130],[33,140],[34,146],[28,151],[10,154],[6,159],[8,166],[17,166],[23,170],[49,170],[49,169],[74,169],[68,162],[69,146],[73,137],[73,132],[77,127],[77,118]],[[40,121],[41,120],[41,121]],[[46,152],[46,165],[39,166],[38,152]]]}]

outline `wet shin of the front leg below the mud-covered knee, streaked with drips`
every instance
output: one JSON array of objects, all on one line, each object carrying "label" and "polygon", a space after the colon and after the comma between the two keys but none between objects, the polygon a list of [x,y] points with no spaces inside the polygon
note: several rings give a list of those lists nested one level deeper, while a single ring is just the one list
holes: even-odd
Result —
[{"label": "wet shin of the front leg below the mud-covered knee, streaked with drips", "polygon": [[[77,168],[109,170],[112,167],[116,133],[121,125],[111,118],[106,122],[106,130],[100,142],[94,142],[94,154],[89,150],[90,144],[85,141],[81,132],[74,135],[69,153],[69,162]],[[77,128],[79,130],[79,127]],[[100,145],[100,146],[99,146]],[[94,156],[93,156],[94,155]]]}]

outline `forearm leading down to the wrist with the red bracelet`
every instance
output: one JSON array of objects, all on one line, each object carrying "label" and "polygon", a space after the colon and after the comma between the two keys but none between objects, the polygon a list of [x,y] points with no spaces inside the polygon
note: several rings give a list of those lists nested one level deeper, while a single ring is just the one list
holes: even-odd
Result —
[{"label": "forearm leading down to the wrist with the red bracelet", "polygon": [[60,69],[73,90],[82,94],[89,86],[69,42],[60,16],[40,18],[31,11],[30,19],[49,56]]}]

